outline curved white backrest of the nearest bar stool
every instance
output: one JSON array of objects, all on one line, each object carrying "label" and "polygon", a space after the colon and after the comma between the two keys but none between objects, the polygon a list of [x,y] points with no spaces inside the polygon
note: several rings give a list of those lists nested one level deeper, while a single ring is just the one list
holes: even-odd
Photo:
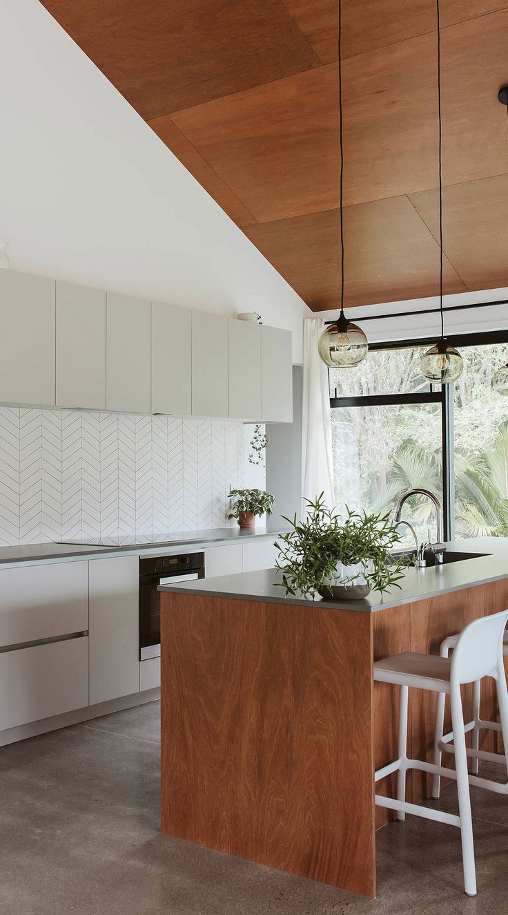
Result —
[{"label": "curved white backrest of the nearest bar stool", "polygon": [[466,626],[451,658],[451,680],[471,684],[503,669],[503,634],[508,610],[474,619]]}]

